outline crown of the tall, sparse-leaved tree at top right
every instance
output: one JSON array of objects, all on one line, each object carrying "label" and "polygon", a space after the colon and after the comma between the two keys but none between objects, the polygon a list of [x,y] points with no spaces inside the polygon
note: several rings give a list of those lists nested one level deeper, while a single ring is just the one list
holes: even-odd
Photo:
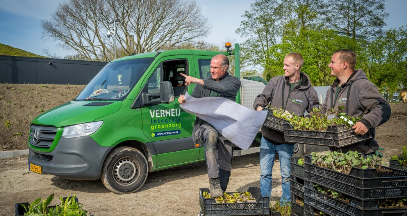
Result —
[{"label": "crown of the tall, sparse-leaved tree at top right", "polygon": [[329,3],[332,14],[328,23],[353,39],[379,36],[389,16],[383,0],[330,0]]}]

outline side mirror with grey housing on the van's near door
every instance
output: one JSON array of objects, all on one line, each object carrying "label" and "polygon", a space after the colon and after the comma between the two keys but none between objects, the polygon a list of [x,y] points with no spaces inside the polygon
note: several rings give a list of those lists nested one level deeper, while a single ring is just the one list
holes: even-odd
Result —
[{"label": "side mirror with grey housing on the van's near door", "polygon": [[[160,100],[158,100],[160,97]],[[141,104],[168,104],[174,102],[174,89],[173,84],[168,81],[160,83],[160,93],[142,93],[141,94]]]}]

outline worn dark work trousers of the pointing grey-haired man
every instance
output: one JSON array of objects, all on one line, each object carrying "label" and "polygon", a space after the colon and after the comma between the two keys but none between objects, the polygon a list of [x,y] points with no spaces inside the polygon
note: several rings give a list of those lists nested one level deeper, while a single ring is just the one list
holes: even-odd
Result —
[{"label": "worn dark work trousers of the pointing grey-haired man", "polygon": [[206,166],[210,178],[219,177],[221,188],[226,190],[232,167],[232,142],[220,135],[212,125],[202,124],[196,132],[197,139],[204,143]]}]

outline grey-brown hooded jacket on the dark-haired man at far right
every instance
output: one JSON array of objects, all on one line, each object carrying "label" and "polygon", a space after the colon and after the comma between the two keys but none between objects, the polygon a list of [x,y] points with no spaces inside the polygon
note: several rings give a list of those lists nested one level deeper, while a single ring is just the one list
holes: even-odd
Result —
[{"label": "grey-brown hooded jacket on the dark-haired man at far right", "polygon": [[[365,142],[348,145],[340,148],[342,151],[358,151],[359,153],[369,154],[379,149],[376,140],[374,140],[375,127],[385,123],[390,118],[390,105],[377,87],[368,80],[365,72],[362,69],[357,69],[348,78],[346,83],[341,85],[337,99],[335,93],[339,80],[335,79],[333,84],[326,91],[324,103],[321,105],[321,113],[326,113],[326,110],[337,106],[345,106],[344,112],[348,116],[354,118],[361,116],[365,110],[365,114],[361,123],[367,128],[372,128],[373,137]],[[333,151],[338,151],[337,148],[330,148]]]}]

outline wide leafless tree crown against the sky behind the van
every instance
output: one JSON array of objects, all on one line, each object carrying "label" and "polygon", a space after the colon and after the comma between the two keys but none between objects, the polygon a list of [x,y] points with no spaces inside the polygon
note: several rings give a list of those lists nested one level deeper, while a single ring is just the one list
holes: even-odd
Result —
[{"label": "wide leafless tree crown against the sky behind the van", "polygon": [[85,59],[101,61],[112,59],[113,39],[105,32],[116,18],[121,19],[116,23],[116,46],[123,54],[173,48],[198,40],[210,29],[190,0],[69,0],[41,25],[45,38]]}]

